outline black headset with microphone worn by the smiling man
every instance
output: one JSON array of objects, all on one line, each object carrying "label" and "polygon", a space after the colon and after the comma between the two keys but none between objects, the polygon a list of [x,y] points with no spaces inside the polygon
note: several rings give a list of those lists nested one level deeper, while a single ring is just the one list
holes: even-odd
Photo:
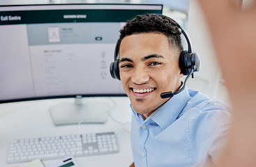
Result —
[{"label": "black headset with microphone worn by the smiling man", "polygon": [[[160,14],[155,14],[155,15],[159,15],[160,17],[167,17],[165,15],[160,15]],[[188,78],[190,77],[190,75],[193,76],[193,72],[197,72],[199,71],[200,68],[200,58],[198,56],[197,53],[192,52],[191,49],[191,45],[190,45],[190,41],[188,39],[188,35],[186,34],[186,32],[181,28],[181,26],[174,21],[174,19],[167,17],[169,19],[171,19],[176,26],[178,26],[179,29],[181,29],[181,33],[184,35],[184,37],[186,38],[186,41],[188,43],[188,50],[185,51],[181,51],[181,54],[179,56],[179,67],[181,68],[181,73],[183,75],[187,75],[183,86],[181,86],[181,88],[179,88],[179,90],[177,90],[176,92],[172,93],[172,92],[167,92],[167,93],[162,93],[161,97],[164,98],[168,98],[168,97],[172,97],[178,93],[180,93],[186,86],[186,81],[188,80]],[[114,62],[112,62],[110,64],[110,74],[112,76],[113,79],[119,79],[120,80],[120,72],[119,72],[119,45],[120,45],[120,40],[117,40],[116,42],[116,47],[114,49]]]}]

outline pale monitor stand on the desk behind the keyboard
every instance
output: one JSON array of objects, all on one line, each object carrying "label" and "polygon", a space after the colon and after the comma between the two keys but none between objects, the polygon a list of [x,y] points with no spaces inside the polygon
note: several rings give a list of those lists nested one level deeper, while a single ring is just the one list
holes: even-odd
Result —
[{"label": "pale monitor stand on the desk behind the keyboard", "polygon": [[62,103],[50,107],[50,114],[55,125],[105,123],[110,108],[110,104],[100,102],[94,97],[83,99],[82,96],[77,96],[74,103]]}]

